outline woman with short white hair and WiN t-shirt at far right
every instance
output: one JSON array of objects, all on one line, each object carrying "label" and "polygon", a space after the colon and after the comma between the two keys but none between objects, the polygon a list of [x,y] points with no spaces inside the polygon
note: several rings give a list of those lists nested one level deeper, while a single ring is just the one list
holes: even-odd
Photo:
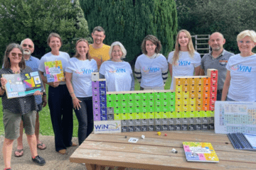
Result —
[{"label": "woman with short white hair and WiN t-shirt at far right", "polygon": [[[223,86],[222,101],[256,101],[256,45],[254,30],[244,30],[237,37],[240,54],[230,57]],[[227,96],[228,94],[228,96]]]}]

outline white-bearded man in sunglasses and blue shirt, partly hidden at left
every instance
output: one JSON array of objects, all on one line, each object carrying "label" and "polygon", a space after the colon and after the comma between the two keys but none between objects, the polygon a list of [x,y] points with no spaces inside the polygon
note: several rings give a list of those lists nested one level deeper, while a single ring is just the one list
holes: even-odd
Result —
[{"label": "white-bearded man in sunglasses and blue shirt, partly hidden at left", "polygon": [[[25,40],[21,41],[21,47],[23,49],[23,56],[24,56],[26,65],[28,67],[31,67],[33,72],[38,71],[38,63],[40,60],[36,57],[31,56],[31,54],[34,51],[33,41],[29,38],[26,38]],[[43,86],[45,86],[45,84],[43,84]],[[45,107],[47,104],[46,93],[45,92],[43,93],[43,98],[42,96],[35,96],[35,98],[36,98],[36,104],[38,105],[38,111],[36,111],[36,126],[35,126],[36,142],[37,142],[37,148],[43,150],[43,149],[46,149],[46,145],[44,145],[43,142],[40,142],[39,140],[39,111],[42,110],[42,106]],[[17,145],[16,151],[14,152],[15,157],[23,156],[22,136],[23,136],[23,121],[21,120],[20,136],[17,139],[18,145]]]}]

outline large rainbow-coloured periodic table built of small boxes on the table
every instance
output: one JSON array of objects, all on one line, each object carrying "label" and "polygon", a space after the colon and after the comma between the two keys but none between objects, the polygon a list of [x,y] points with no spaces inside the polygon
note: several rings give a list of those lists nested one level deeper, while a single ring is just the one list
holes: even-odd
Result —
[{"label": "large rainbow-coloured periodic table built of small boxes on the table", "polygon": [[218,70],[209,69],[206,77],[174,77],[174,91],[107,92],[106,80],[97,77],[93,73],[95,133],[214,128]]}]

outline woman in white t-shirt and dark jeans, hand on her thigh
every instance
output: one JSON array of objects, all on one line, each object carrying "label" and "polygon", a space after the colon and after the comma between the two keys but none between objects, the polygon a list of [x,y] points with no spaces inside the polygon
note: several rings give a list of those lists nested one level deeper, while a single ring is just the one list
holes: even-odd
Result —
[{"label": "woman in white t-shirt and dark jeans, hand on her thigh", "polygon": [[78,40],[75,50],[75,56],[69,60],[65,68],[65,77],[78,118],[78,142],[81,145],[93,130],[92,72],[97,72],[97,62],[90,59],[87,40]]}]

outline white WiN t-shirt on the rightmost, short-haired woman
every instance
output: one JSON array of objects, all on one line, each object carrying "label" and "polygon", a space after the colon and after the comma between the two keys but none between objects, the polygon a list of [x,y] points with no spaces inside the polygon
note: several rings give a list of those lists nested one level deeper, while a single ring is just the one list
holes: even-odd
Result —
[{"label": "white WiN t-shirt on the rightmost, short-haired woman", "polygon": [[228,98],[234,101],[256,101],[256,55],[230,57],[226,68],[230,71]]}]

